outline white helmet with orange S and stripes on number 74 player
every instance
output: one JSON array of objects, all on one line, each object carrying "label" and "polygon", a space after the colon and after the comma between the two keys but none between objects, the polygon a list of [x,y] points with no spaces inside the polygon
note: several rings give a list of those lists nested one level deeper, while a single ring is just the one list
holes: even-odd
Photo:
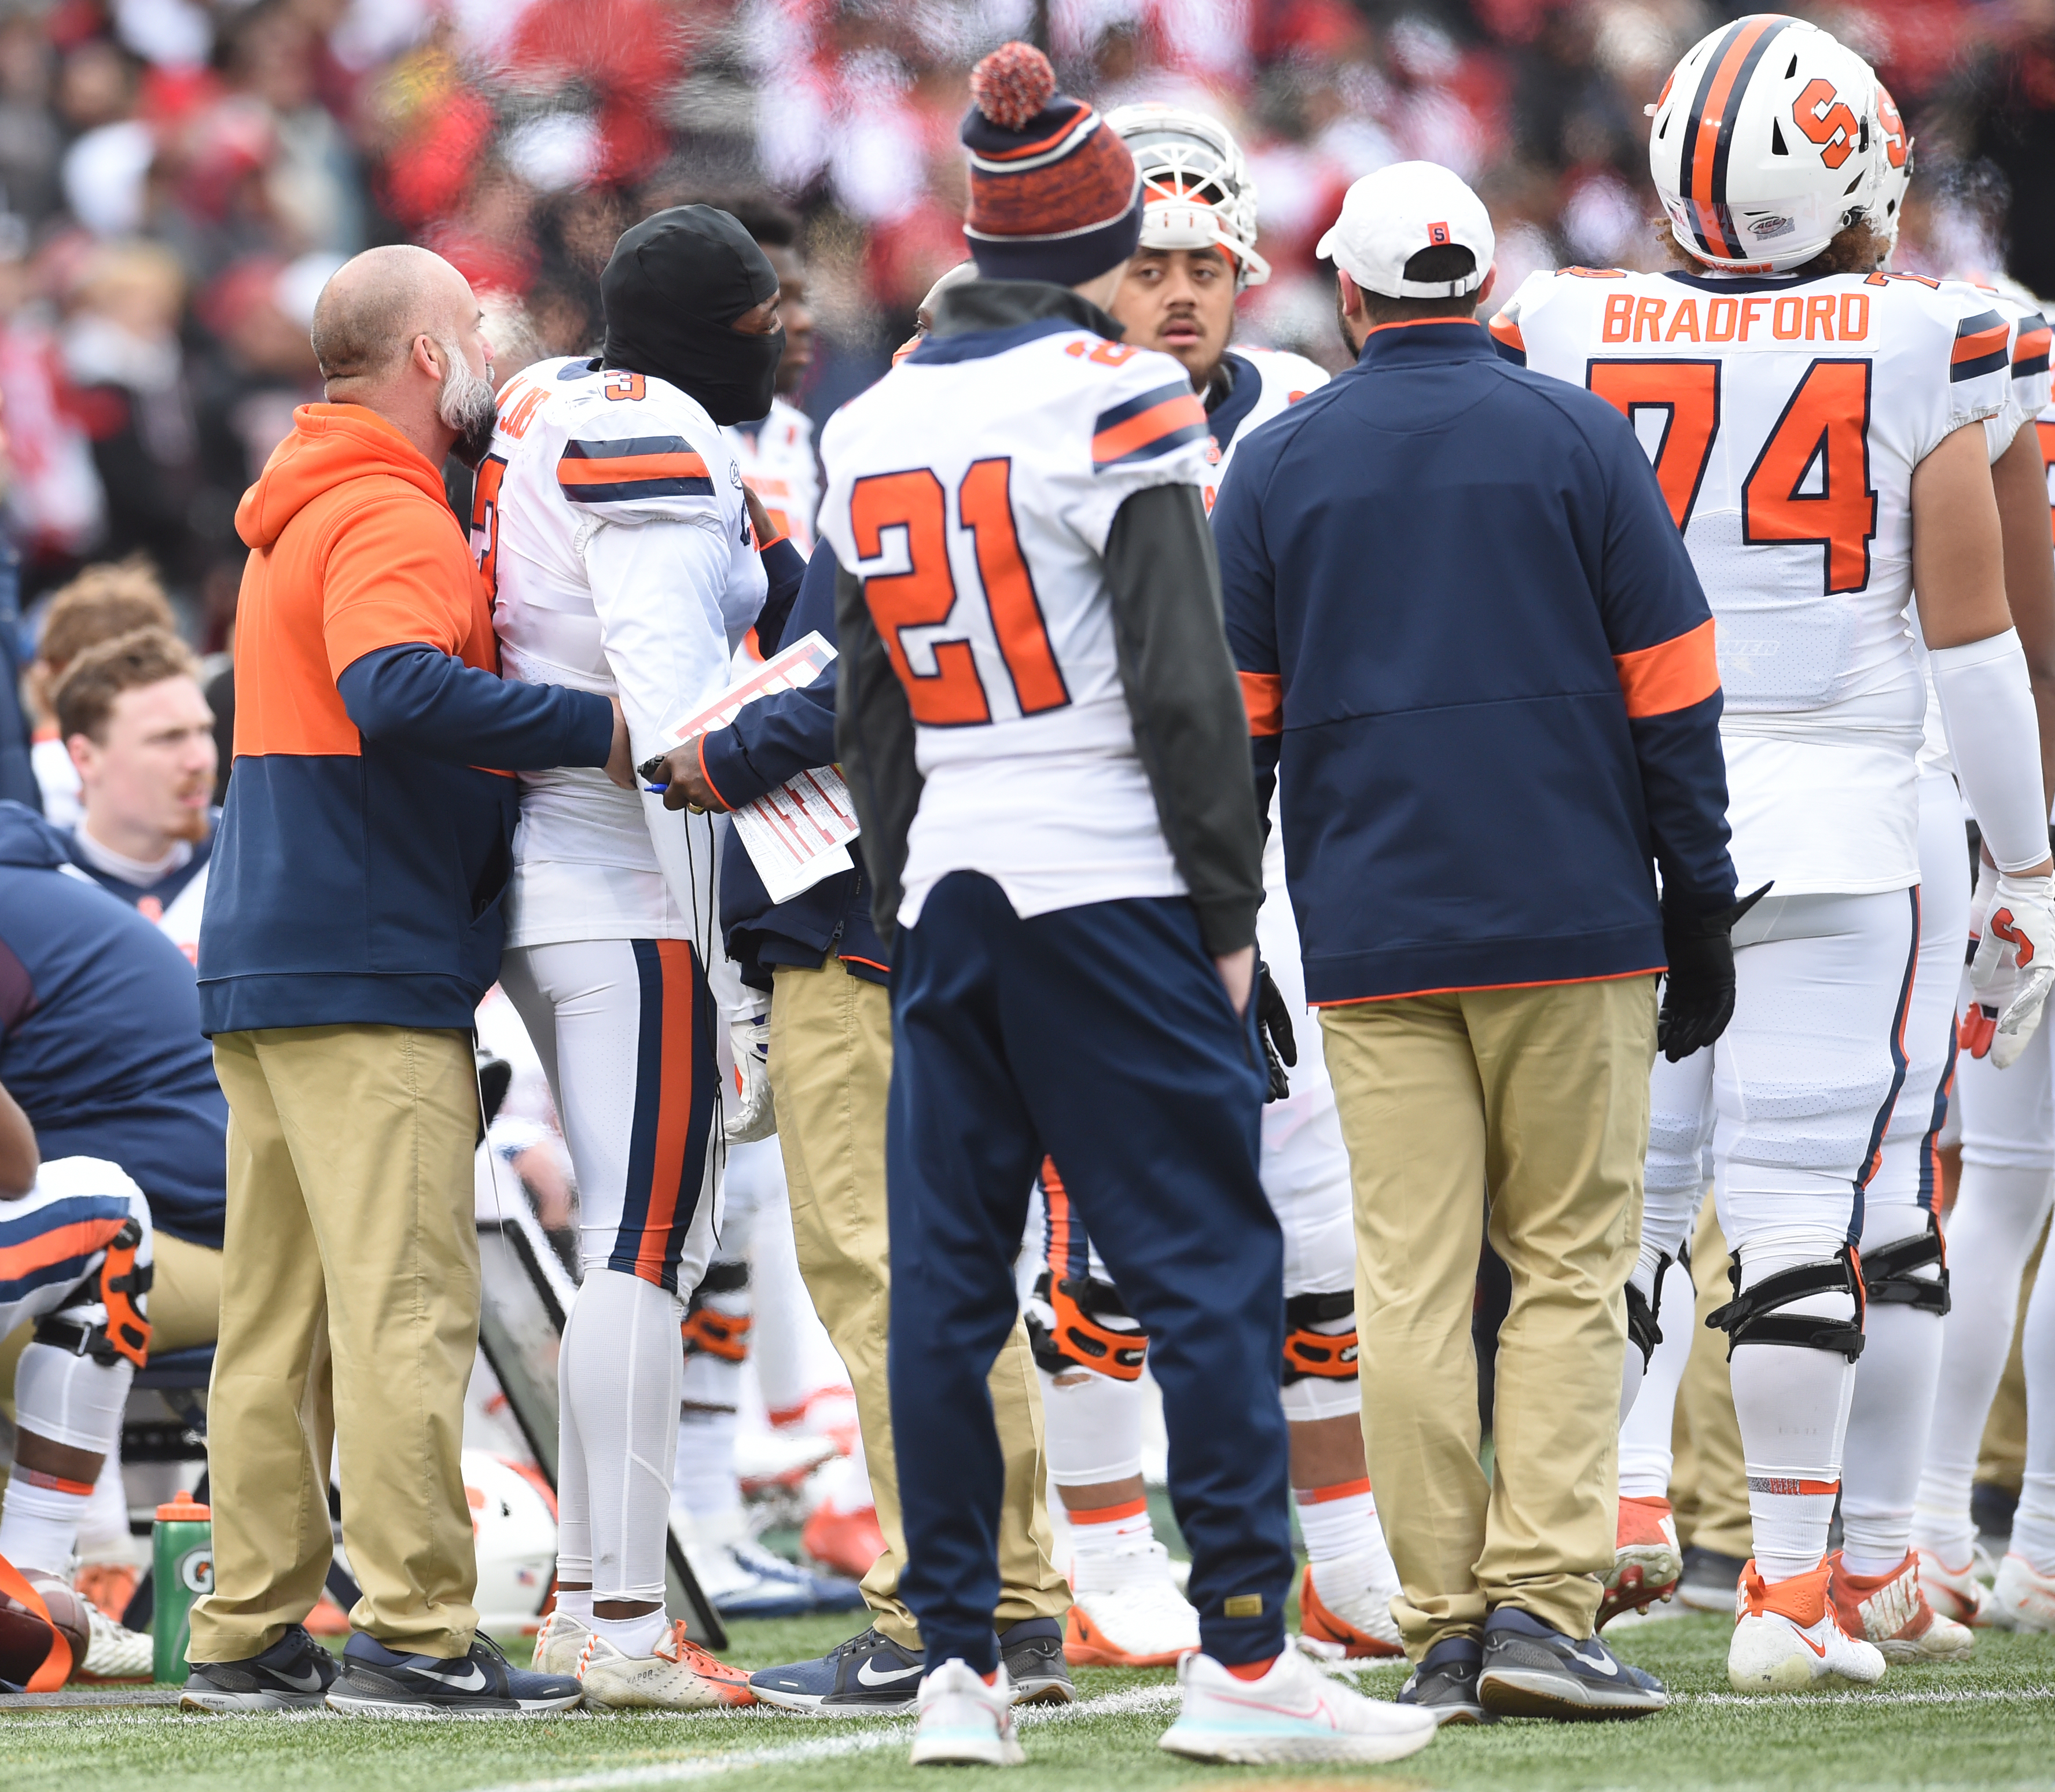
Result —
[{"label": "white helmet with orange S and stripes on number 74 player", "polygon": [[1702,37],[1650,117],[1671,232],[1712,267],[1800,267],[1876,201],[1876,74],[1802,18],[1753,12]]}]

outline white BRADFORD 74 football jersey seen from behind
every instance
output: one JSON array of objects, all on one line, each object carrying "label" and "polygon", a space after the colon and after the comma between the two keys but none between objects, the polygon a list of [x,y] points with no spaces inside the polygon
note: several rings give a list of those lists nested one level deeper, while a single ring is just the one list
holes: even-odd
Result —
[{"label": "white BRADFORD 74 football jersey seen from behind", "polygon": [[1911,479],[2004,407],[2006,316],[1897,273],[1568,267],[1490,331],[1617,405],[1654,462],[1718,623],[1741,888],[1917,884]]}]

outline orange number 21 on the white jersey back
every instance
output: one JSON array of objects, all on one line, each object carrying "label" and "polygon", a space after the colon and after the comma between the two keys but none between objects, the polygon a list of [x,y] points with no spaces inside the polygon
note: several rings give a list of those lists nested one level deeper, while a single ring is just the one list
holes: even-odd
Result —
[{"label": "orange number 21 on the white jersey back", "polygon": [[[976,549],[984,608],[1021,715],[1040,715],[1044,709],[1060,709],[1071,693],[1048,643],[1042,602],[1013,528],[1011,481],[1009,456],[972,462],[956,487],[956,516]],[[849,493],[849,524],[857,536],[857,557],[865,561],[884,557],[888,530],[904,530],[906,536],[906,571],[865,575],[863,598],[892,656],[892,670],[906,686],[912,719],[925,727],[991,721],[993,705],[962,621],[956,639],[929,637],[933,672],[917,672],[902,641],[906,629],[937,629],[956,612],[949,495],[941,479],[927,466],[859,479]]]}]

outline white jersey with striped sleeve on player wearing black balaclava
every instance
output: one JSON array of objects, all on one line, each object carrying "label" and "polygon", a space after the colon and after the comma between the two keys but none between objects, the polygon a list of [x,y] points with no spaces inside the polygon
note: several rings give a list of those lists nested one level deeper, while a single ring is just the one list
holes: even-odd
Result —
[{"label": "white jersey with striped sleeve on player wearing black balaclava", "polygon": [[[764,598],[742,471],[713,419],[664,380],[584,356],[538,362],[499,395],[471,547],[501,672],[619,697],[635,764],[727,684]],[[703,828],[592,767],[520,783],[508,945],[705,931]]]}]

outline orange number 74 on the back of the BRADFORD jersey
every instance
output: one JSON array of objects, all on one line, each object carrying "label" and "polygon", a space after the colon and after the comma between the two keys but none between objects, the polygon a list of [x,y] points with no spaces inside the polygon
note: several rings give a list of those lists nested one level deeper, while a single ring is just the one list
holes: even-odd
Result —
[{"label": "orange number 74 on the back of the BRADFORD jersey", "polygon": [[[1720,362],[1601,362],[1584,384],[1630,423],[1665,411],[1656,483],[1677,528],[1691,520],[1720,434]],[[1802,487],[1813,485],[1813,491]],[[1741,487],[1741,538],[1823,549],[1825,590],[1870,582],[1876,491],[1870,487],[1870,362],[1817,360],[1763,442]]]}]

